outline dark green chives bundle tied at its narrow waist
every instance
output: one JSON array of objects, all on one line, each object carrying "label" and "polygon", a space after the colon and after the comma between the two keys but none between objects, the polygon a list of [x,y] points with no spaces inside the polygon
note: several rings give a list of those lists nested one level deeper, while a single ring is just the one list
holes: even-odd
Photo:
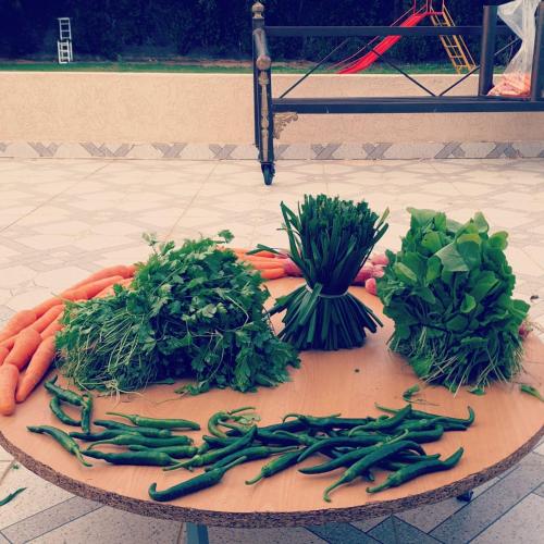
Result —
[{"label": "dark green chives bundle tied at its narrow waist", "polygon": [[306,285],[277,299],[271,313],[287,310],[280,337],[297,349],[361,346],[366,329],[382,323],[370,308],[347,292],[374,245],[385,234],[385,218],[367,202],[326,195],[305,196],[298,213],[282,202],[290,258]]}]

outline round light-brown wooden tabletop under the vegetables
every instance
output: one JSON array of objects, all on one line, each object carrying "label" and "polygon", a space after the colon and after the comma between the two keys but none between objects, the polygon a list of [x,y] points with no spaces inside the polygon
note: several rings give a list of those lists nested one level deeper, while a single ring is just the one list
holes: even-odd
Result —
[{"label": "round light-brown wooden tabletop under the vegetables", "polygon": [[[280,280],[271,282],[269,287],[273,295],[279,295],[299,283],[293,279]],[[354,288],[354,293],[382,314],[378,298],[361,288]],[[175,386],[159,385],[120,399],[98,398],[95,418],[116,410],[154,418],[191,419],[206,429],[212,413],[247,405],[256,407],[261,424],[279,422],[287,412],[378,416],[381,412],[374,403],[401,407],[403,392],[418,382],[406,361],[387,350],[392,322],[384,319],[384,323],[362,348],[301,354],[301,368],[290,372],[293,381],[276,388],[260,388],[258,393],[245,395],[228,390],[180,397],[173,393]],[[542,387],[544,345],[531,335],[526,346],[526,373],[519,381]],[[520,393],[517,384],[495,384],[484,396],[467,391],[454,396],[444,387],[425,387],[422,396],[435,405],[421,408],[428,411],[466,417],[467,406],[474,408],[475,423],[468,431],[449,432],[440,442],[424,445],[428,453],[441,453],[443,458],[462,446],[465,456],[459,465],[450,471],[424,475],[374,495],[367,494],[367,483],[359,480],[335,491],[331,504],[323,502],[322,492],[338,478],[339,471],[310,477],[289,469],[256,485],[245,485],[244,481],[256,475],[265,461],[236,467],[222,483],[209,490],[173,503],[153,503],[148,497],[151,482],[163,490],[187,479],[188,472],[118,467],[96,459],[91,459],[92,468],[82,467],[50,437],[26,431],[30,424],[64,428],[50,412],[49,395],[42,387],[17,407],[15,416],[0,417],[0,443],[46,480],[110,506],[209,526],[285,527],[359,520],[457,496],[509,468],[528,454],[544,433],[542,403]],[[198,443],[202,433],[188,434]],[[311,458],[304,465],[316,462],[318,459]],[[384,474],[378,472],[376,480],[382,478]]]}]

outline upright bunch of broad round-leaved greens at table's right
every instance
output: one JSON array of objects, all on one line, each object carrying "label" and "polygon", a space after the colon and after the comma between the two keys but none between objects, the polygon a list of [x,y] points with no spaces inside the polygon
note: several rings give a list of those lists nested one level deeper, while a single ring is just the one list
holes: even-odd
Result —
[{"label": "upright bunch of broad round-leaved greens at table's right", "polygon": [[529,305],[511,298],[516,277],[481,213],[461,225],[432,210],[408,210],[401,249],[378,283],[395,322],[391,348],[416,373],[452,390],[510,380],[521,370],[519,327]]}]

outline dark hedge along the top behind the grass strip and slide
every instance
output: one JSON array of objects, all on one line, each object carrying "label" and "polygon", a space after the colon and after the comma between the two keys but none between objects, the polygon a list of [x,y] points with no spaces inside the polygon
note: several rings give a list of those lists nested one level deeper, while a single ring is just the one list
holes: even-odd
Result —
[{"label": "dark hedge along the top behind the grass strip and slide", "polygon": [[[479,24],[481,3],[449,0],[458,24]],[[247,57],[250,53],[252,0],[0,0],[0,55],[54,55],[57,17],[71,16],[74,51],[115,59],[128,52],[143,57],[202,54]],[[268,0],[267,21],[284,25],[391,24],[411,0]],[[314,60],[337,40],[275,39],[274,59]],[[339,58],[355,50],[354,40]],[[472,44],[474,48],[478,44]],[[397,59],[444,59],[436,39],[403,39]]]}]

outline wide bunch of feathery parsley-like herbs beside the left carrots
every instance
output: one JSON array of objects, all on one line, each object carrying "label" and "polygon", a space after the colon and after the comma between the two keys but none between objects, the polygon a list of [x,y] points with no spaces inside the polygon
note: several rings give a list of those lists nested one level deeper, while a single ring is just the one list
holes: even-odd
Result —
[{"label": "wide bunch of feathery parsley-like herbs beside the left carrots", "polygon": [[234,252],[232,239],[173,242],[152,247],[129,288],[112,297],[67,304],[58,335],[60,364],[85,388],[134,391],[169,378],[247,392],[288,380],[297,354],[273,333],[263,280]]}]

